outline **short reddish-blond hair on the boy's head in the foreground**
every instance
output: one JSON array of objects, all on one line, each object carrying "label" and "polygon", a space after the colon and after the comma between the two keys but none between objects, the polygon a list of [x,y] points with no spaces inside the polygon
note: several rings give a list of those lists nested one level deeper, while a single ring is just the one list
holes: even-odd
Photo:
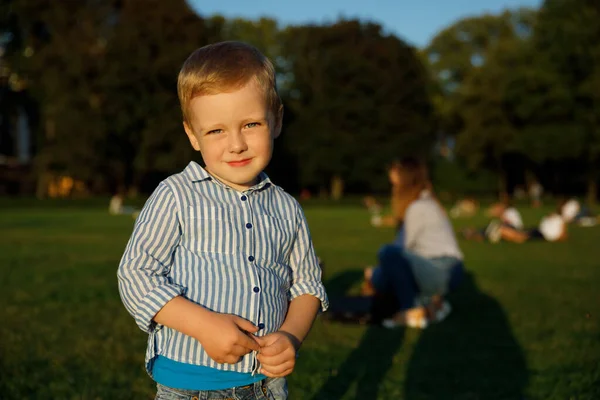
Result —
[{"label": "short reddish-blond hair on the boy's head in the foreground", "polygon": [[280,123],[281,99],[275,68],[256,47],[243,42],[219,42],[196,49],[183,63],[177,78],[177,94],[183,120],[190,123],[194,97],[239,89],[255,79],[265,93],[267,108]]}]

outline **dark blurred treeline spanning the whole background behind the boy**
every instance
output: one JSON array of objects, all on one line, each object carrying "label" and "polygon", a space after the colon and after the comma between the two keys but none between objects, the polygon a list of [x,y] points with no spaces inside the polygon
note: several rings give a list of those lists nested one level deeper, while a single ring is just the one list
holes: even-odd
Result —
[{"label": "dark blurred treeline spanning the whole background behind the boy", "polygon": [[[540,10],[458,21],[415,49],[357,20],[281,27],[197,15],[184,0],[8,0],[0,154],[5,164],[15,158],[24,115],[38,195],[60,176],[85,193],[147,193],[198,159],[177,101],[183,60],[199,46],[243,40],[278,71],[285,125],[268,173],[292,192],[382,191],[386,163],[417,154],[465,177],[487,171],[487,189],[539,180],[592,198],[598,21],[598,2],[546,0]],[[447,189],[464,193],[459,181]]]}]

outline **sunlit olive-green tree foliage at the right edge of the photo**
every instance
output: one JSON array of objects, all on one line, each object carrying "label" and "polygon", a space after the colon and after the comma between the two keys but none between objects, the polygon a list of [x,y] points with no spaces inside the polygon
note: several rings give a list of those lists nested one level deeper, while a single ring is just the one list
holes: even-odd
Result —
[{"label": "sunlit olive-green tree foliage at the right edge of the photo", "polygon": [[465,19],[427,47],[440,126],[471,168],[502,174],[516,154],[548,179],[577,164],[595,191],[600,14],[575,3]]}]

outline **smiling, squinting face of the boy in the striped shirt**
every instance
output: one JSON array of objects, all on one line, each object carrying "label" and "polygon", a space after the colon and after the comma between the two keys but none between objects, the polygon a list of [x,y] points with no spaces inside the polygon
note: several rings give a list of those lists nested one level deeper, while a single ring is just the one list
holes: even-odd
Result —
[{"label": "smiling, squinting face of the boy in the striped shirt", "polygon": [[[279,118],[281,121],[281,118]],[[241,89],[197,96],[190,102],[185,132],[200,151],[206,170],[244,191],[256,183],[273,153],[281,124],[267,108],[264,91],[252,79]]]}]

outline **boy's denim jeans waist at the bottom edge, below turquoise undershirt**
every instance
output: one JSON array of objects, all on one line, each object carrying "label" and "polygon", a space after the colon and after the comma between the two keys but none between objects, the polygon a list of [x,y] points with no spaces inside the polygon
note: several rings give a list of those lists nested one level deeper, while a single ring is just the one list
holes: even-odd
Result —
[{"label": "boy's denim jeans waist at the bottom edge, below turquoise undershirt", "polygon": [[248,386],[221,390],[184,390],[156,385],[154,400],[285,400],[285,378],[267,378]]}]

